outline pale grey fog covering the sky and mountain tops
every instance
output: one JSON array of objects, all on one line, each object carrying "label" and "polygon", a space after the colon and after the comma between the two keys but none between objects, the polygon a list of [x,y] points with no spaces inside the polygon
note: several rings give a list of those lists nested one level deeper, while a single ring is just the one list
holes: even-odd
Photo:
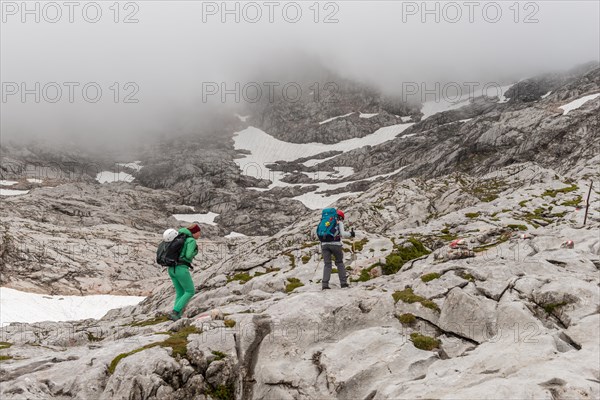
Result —
[{"label": "pale grey fog covering the sky and mountain tops", "polygon": [[597,1],[228,2],[229,14],[221,2],[23,4],[2,2],[2,142],[200,132],[215,106],[243,106],[207,83],[283,85],[321,66],[400,94],[406,82],[506,83],[600,58]]}]

